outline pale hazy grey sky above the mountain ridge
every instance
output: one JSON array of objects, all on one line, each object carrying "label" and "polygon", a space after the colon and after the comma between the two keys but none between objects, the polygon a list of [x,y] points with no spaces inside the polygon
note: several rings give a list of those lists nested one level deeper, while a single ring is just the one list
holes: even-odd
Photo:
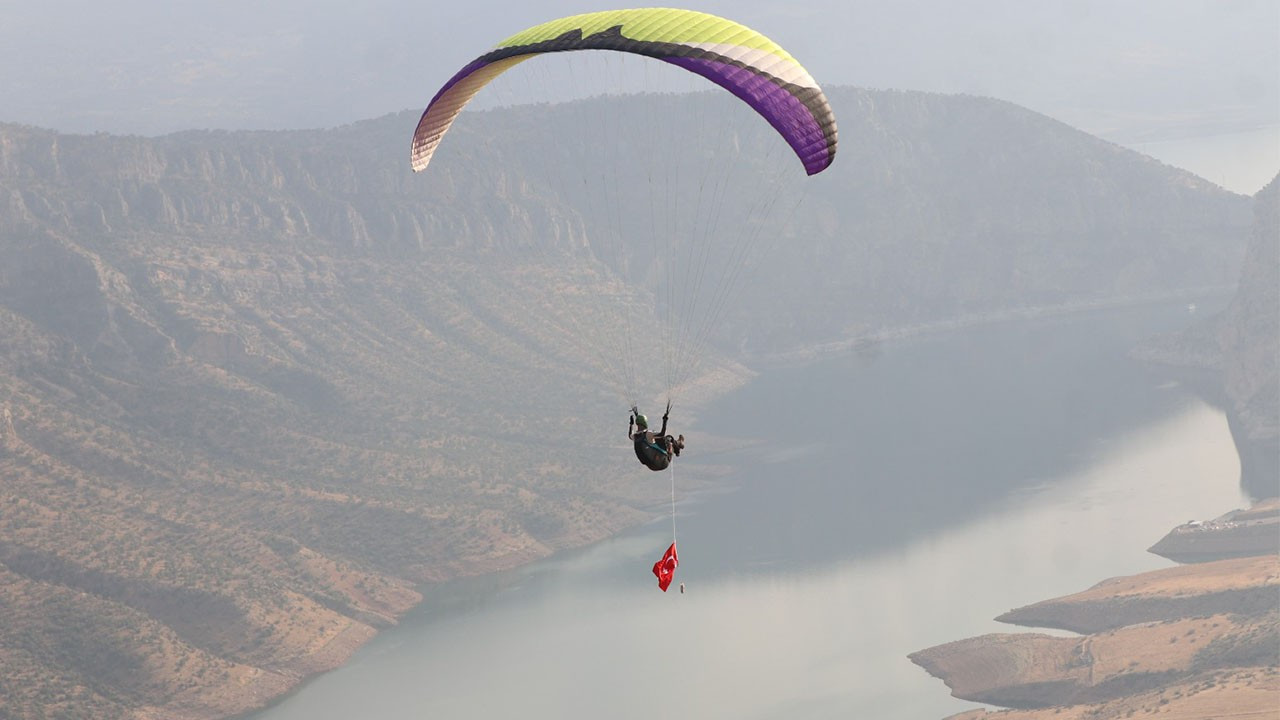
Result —
[{"label": "pale hazy grey sky above the mountain ridge", "polygon": [[[634,5],[0,0],[0,122],[141,135],[332,127],[420,109],[530,24]],[[823,83],[995,96],[1157,156],[1213,137],[1220,152],[1243,147],[1263,182],[1280,169],[1277,0],[692,6],[769,35]],[[1226,179],[1213,172],[1202,174]]]}]

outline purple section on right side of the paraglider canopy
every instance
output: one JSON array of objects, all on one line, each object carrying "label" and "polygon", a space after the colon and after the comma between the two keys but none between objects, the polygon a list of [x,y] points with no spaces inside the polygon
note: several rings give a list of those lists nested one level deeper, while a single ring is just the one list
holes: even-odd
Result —
[{"label": "purple section on right side of the paraglider canopy", "polygon": [[818,119],[799,97],[769,78],[717,60],[698,58],[660,58],[660,60],[698,73],[755,108],[755,111],[769,120],[769,124],[786,138],[810,176],[831,164],[827,137]]}]

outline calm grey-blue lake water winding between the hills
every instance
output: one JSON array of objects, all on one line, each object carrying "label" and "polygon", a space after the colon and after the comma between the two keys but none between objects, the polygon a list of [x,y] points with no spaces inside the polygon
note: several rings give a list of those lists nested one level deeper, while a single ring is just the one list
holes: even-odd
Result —
[{"label": "calm grey-blue lake water winding between the hills", "polygon": [[[740,468],[732,491],[680,505],[685,594],[650,573],[672,538],[659,520],[433,588],[347,666],[255,717],[974,707],[906,655],[1021,632],[991,619],[1169,566],[1144,548],[1247,503],[1222,413],[1126,356],[1193,318],[1166,305],[1004,323],[768,370],[692,428],[768,445],[708,459]],[[696,457],[690,446],[680,462]]]}]

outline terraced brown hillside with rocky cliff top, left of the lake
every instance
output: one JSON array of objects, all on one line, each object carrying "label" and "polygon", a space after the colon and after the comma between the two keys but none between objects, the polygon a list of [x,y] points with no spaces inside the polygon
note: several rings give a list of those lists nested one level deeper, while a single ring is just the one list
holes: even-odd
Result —
[{"label": "terraced brown hillside with rocky cliff top, left of the lake", "polygon": [[614,281],[367,252],[332,186],[274,190],[325,158],[193,140],[4,133],[6,717],[242,712],[416,583],[600,539],[664,495],[620,471],[625,406],[571,333]]}]

